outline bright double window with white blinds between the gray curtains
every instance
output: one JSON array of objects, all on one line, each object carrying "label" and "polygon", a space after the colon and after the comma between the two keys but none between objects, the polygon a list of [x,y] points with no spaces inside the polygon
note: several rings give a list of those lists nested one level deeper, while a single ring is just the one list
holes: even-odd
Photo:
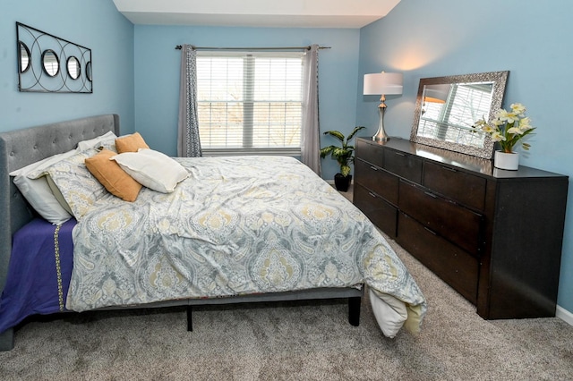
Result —
[{"label": "bright double window with white blinds between the gray curtains", "polygon": [[201,148],[207,155],[300,155],[303,52],[197,53]]}]

